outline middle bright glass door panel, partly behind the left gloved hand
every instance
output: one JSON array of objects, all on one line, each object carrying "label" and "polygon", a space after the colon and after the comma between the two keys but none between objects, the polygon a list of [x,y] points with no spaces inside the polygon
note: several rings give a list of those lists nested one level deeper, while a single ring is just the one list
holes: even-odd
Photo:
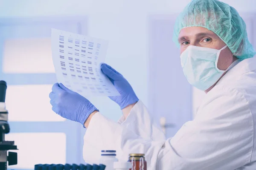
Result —
[{"label": "middle bright glass door panel, partly behind the left gloved hand", "polygon": [[64,121],[64,118],[52,111],[49,99],[51,91],[52,85],[9,85],[6,90],[9,121]]}]

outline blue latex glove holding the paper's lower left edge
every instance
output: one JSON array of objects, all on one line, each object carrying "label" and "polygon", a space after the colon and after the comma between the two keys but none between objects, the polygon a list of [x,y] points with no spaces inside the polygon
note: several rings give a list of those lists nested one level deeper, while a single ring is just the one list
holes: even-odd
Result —
[{"label": "blue latex glove holding the paper's lower left edge", "polygon": [[55,83],[49,94],[52,111],[69,120],[84,122],[93,111],[99,111],[96,107],[80,94],[69,90],[62,83]]}]

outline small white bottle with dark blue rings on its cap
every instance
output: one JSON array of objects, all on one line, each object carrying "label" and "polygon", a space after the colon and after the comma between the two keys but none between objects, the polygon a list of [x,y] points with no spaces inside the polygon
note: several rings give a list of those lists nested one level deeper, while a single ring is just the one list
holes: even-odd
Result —
[{"label": "small white bottle with dark blue rings on its cap", "polygon": [[116,161],[118,159],[116,159],[115,150],[102,150],[99,163],[106,165],[105,170],[113,170],[113,163]]}]

